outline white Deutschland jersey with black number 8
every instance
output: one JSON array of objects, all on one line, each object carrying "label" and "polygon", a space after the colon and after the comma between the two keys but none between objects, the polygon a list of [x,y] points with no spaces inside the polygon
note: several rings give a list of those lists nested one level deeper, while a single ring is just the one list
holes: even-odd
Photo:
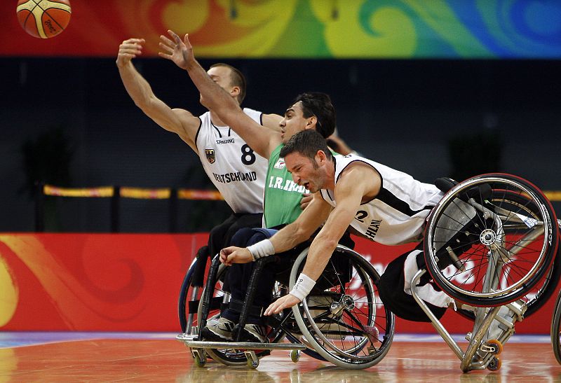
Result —
[{"label": "white Deutschland jersey with black number 8", "polygon": [[[249,108],[243,111],[262,123],[261,112]],[[195,144],[206,174],[234,213],[262,213],[267,160],[257,155],[230,127],[213,125],[210,112],[199,118],[201,126]]]}]

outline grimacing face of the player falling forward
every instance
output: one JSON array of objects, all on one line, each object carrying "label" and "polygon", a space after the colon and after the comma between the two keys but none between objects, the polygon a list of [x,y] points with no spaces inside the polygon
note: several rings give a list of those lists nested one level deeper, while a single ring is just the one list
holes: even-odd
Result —
[{"label": "grimacing face of the player falling forward", "polygon": [[286,155],[285,165],[295,183],[304,186],[311,193],[324,188],[326,177],[323,167],[318,165],[318,155],[311,160],[300,153],[292,152]]}]

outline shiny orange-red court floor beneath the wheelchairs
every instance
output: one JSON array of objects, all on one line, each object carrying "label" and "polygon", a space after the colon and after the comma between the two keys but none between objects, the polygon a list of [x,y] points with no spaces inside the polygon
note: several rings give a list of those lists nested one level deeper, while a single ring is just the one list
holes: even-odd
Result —
[{"label": "shiny orange-red court floor beneath the wheelchairs", "polygon": [[367,370],[344,370],[306,355],[292,363],[288,351],[273,351],[250,370],[212,361],[198,368],[184,344],[171,337],[100,336],[25,346],[4,342],[0,382],[561,382],[561,365],[543,341],[509,342],[500,370],[462,373],[442,340],[396,340],[386,358]]}]

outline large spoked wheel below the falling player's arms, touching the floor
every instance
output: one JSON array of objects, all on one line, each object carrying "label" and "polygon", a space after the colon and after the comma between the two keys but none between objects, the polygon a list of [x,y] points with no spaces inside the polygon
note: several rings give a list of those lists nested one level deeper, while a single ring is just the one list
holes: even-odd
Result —
[{"label": "large spoked wheel below the falling player's arms, touching the floor", "polygon": [[[308,249],[298,256],[290,287],[302,272]],[[369,368],[393,341],[395,318],[381,302],[379,274],[360,254],[337,246],[316,286],[292,307],[304,339],[325,360],[343,368]]]}]

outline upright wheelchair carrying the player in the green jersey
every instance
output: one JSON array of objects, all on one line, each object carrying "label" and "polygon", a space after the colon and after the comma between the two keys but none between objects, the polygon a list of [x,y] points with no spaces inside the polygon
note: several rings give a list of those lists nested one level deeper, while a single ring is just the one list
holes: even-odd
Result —
[{"label": "upright wheelchair carrying the player in the green jersey", "polygon": [[[308,249],[297,256],[287,283],[276,282],[273,295],[278,298],[290,291],[304,267]],[[245,302],[252,302],[259,270],[275,257],[257,260]],[[219,316],[229,302],[224,291],[224,273],[228,267],[215,256],[199,300],[194,326],[177,335],[191,350],[195,364],[205,365],[208,358],[226,365],[257,368],[259,358],[273,349],[290,350],[297,362],[301,352],[343,368],[369,368],[381,361],[393,341],[395,318],[377,294],[379,274],[359,253],[339,245],[318,278],[316,287],[299,305],[285,309],[269,319],[269,343],[205,342],[198,335],[208,320]],[[192,307],[192,305],[191,305]],[[243,328],[250,305],[245,305],[239,321]],[[236,336],[236,333],[234,333]]]}]

